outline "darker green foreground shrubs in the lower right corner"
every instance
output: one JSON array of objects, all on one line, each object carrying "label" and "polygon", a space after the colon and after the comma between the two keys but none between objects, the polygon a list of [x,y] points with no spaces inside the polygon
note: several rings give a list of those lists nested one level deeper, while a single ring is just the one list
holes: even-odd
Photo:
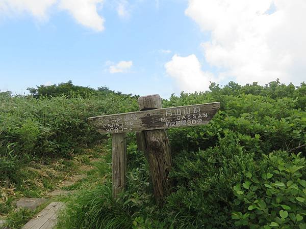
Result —
[{"label": "darker green foreground shrubs in the lower right corner", "polygon": [[[173,212],[169,218],[180,213],[177,227],[306,226],[306,161],[300,155],[278,151],[258,159],[229,135],[214,148],[177,156],[174,164],[177,185],[165,207]],[[302,217],[282,221],[281,210]]]}]

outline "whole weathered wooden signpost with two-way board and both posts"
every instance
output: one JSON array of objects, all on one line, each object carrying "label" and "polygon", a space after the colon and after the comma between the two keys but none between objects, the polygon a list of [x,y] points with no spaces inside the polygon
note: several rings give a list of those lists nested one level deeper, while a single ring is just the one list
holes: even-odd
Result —
[{"label": "whole weathered wooden signpost with two-way board and both posts", "polygon": [[149,163],[154,195],[159,204],[169,194],[168,174],[172,166],[170,145],[165,129],[208,124],[220,103],[162,108],[159,95],[138,99],[140,111],[97,116],[88,121],[101,134],[112,134],[113,195],[125,188],[126,133],[137,132],[138,149],[144,151]]}]

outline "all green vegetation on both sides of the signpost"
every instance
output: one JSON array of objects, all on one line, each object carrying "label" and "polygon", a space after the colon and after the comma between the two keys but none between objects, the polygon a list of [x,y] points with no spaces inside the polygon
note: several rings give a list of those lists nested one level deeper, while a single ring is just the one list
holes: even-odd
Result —
[{"label": "all green vegetation on both sides of the signpost", "polygon": [[[137,97],[107,90],[36,90],[26,97],[0,94],[0,179],[20,187],[25,161],[89,163],[78,155],[98,137],[88,117],[138,109]],[[208,125],[167,131],[174,186],[162,208],[132,133],[126,191],[111,196],[109,139],[90,180],[72,187],[79,192],[65,200],[59,228],[306,228],[306,84],[212,83],[207,92],[172,95],[163,107],[215,101],[221,108]]]}]

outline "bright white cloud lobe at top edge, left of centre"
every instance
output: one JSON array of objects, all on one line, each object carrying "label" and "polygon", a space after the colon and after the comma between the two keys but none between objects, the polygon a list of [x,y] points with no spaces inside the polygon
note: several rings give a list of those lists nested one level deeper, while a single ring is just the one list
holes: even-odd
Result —
[{"label": "bright white cloud lobe at top edge, left of centre", "polygon": [[68,10],[75,20],[95,31],[104,30],[104,18],[97,13],[97,4],[104,0],[61,0],[60,9]]}]

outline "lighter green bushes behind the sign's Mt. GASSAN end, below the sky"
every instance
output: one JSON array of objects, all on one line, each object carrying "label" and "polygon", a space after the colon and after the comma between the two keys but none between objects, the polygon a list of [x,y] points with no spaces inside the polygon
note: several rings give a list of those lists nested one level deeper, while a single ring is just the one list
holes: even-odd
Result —
[{"label": "lighter green bushes behind the sign's Mt. GASSAN end, below the sky", "polygon": [[[289,89],[291,92],[292,89]],[[306,84],[302,84],[297,90],[301,89],[306,89]],[[164,106],[214,101],[221,103],[220,111],[208,125],[169,130],[175,152],[215,146],[217,134],[225,136],[232,130],[240,144],[250,151],[269,153],[281,149],[289,152],[301,151],[306,155],[305,147],[302,147],[306,139],[306,111],[304,107],[298,106],[298,101],[306,98],[306,90],[301,98],[294,99],[239,94],[236,90],[233,91],[233,94],[237,94],[235,96],[227,90],[225,87],[218,89],[218,93],[215,89],[210,93],[182,93],[181,97],[172,96],[169,101],[164,101]],[[177,135],[180,138],[177,138]]]}]

